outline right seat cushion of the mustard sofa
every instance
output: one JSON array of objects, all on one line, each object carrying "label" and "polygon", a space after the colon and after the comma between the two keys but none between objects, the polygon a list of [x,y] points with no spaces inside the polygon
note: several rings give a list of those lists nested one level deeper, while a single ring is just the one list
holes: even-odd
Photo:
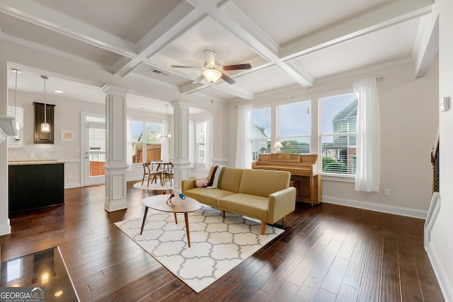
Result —
[{"label": "right seat cushion of the mustard sofa", "polygon": [[250,194],[231,194],[217,200],[217,209],[266,221],[268,198]]}]

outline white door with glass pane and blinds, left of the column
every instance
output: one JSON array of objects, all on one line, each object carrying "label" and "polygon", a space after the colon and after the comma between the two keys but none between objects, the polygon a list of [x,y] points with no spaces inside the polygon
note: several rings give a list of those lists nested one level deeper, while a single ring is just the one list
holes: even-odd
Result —
[{"label": "white door with glass pane and blinds, left of the column", "polygon": [[84,128],[84,185],[100,185],[105,183],[105,124]]}]

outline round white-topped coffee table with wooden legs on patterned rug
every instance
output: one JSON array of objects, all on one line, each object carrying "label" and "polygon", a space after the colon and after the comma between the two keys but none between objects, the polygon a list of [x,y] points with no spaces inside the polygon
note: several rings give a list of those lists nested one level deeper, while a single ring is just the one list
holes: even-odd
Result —
[{"label": "round white-topped coffee table with wooden legs on patterned rug", "polygon": [[175,222],[178,224],[178,219],[176,218],[177,213],[184,213],[185,218],[185,232],[187,233],[187,242],[190,248],[190,234],[189,234],[189,219],[188,213],[197,211],[200,209],[200,202],[197,202],[195,199],[190,197],[185,197],[181,199],[178,194],[175,194],[175,197],[171,199],[171,202],[167,202],[171,194],[161,194],[142,199],[144,204],[144,216],[142,229],[140,230],[140,235],[143,233],[144,223],[147,221],[148,208],[155,209],[157,211],[166,211],[168,213],[173,213],[175,216]]}]

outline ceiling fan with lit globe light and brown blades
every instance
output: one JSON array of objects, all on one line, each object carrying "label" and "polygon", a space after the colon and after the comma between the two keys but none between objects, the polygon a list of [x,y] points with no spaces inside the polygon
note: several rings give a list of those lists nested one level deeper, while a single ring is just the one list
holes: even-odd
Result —
[{"label": "ceiling fan with lit globe light and brown blades", "polygon": [[224,74],[222,71],[227,71],[227,70],[238,70],[238,69],[251,69],[252,66],[249,63],[246,64],[234,64],[234,65],[226,65],[222,66],[215,60],[215,52],[212,50],[205,50],[205,57],[206,57],[206,62],[204,66],[198,67],[198,66],[183,66],[183,65],[171,65],[173,68],[190,68],[190,69],[203,69],[203,73],[201,76],[197,77],[195,81],[193,81],[194,84],[200,83],[202,79],[207,79],[207,81],[210,81],[210,83],[214,83],[218,79],[222,78],[222,80],[226,81],[227,83],[234,84],[236,81],[234,79],[231,79],[229,76]]}]

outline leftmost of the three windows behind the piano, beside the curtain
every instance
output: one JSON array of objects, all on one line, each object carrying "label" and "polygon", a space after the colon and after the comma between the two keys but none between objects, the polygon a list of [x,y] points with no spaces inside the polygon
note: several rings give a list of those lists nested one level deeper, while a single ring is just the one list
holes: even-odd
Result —
[{"label": "leftmost of the three windows behind the piano, beside the curtain", "polygon": [[252,161],[260,153],[270,153],[270,107],[252,110],[251,113]]}]

